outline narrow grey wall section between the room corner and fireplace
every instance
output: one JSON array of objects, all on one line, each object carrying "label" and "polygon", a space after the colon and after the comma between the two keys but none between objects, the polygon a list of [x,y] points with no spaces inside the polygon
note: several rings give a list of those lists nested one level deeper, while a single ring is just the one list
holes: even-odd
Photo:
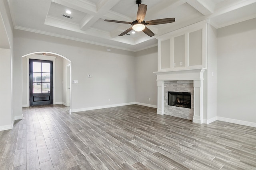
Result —
[{"label": "narrow grey wall section between the room corner and fireplace", "polygon": [[[136,102],[157,108],[157,47],[136,53]],[[149,101],[150,98],[150,101]]]}]

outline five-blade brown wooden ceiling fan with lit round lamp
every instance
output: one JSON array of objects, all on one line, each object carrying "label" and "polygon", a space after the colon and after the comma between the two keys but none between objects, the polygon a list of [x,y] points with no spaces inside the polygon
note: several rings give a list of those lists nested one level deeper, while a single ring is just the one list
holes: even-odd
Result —
[{"label": "five-blade brown wooden ceiling fan with lit round lamp", "polygon": [[158,25],[163,23],[171,23],[175,21],[175,18],[163,18],[158,20],[151,20],[151,21],[144,21],[147,12],[147,5],[141,4],[141,0],[136,0],[136,4],[138,4],[138,12],[137,12],[137,19],[133,22],[126,22],[126,21],[116,21],[116,20],[104,20],[108,22],[116,22],[116,23],[128,23],[131,24],[132,27],[127,29],[126,31],[122,32],[119,36],[123,36],[128,32],[134,29],[135,31],[143,31],[146,35],[152,37],[155,34],[146,27],[146,25]]}]

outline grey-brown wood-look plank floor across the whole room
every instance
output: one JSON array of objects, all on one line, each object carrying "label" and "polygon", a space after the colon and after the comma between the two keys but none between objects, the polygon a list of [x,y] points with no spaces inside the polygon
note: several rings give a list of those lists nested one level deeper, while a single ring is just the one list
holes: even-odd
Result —
[{"label": "grey-brown wood-look plank floor across the whole room", "polygon": [[0,131],[1,170],[256,170],[256,128],[208,125],[138,105],[70,114],[26,107]]}]

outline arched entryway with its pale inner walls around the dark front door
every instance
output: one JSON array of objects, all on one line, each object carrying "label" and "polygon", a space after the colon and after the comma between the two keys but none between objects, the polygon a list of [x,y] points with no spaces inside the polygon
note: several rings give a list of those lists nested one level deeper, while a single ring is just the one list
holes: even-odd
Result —
[{"label": "arched entryway with its pale inner walls around the dark front door", "polygon": [[[30,106],[29,60],[38,59],[53,63],[53,104],[71,106],[71,61],[57,53],[39,51],[22,56],[22,107]],[[69,67],[67,67],[69,66]],[[67,72],[67,69],[69,69]],[[67,78],[67,76],[69,76]],[[68,81],[67,81],[68,80]],[[67,96],[68,95],[68,96]],[[71,108],[70,108],[71,109]]]}]

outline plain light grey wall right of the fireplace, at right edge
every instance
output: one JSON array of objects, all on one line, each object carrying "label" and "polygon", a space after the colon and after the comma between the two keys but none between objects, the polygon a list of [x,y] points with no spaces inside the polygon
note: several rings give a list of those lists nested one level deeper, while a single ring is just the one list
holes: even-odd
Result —
[{"label": "plain light grey wall right of the fireplace, at right edge", "polygon": [[217,30],[217,116],[256,123],[256,18]]}]

